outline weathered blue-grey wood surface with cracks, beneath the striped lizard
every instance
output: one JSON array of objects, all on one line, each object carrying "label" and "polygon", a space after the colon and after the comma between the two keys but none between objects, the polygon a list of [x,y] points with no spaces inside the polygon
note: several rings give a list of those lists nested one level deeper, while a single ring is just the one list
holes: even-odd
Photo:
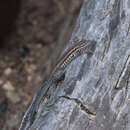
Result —
[{"label": "weathered blue-grey wood surface with cracks, beneath the striped lizard", "polygon": [[84,1],[67,48],[94,40],[94,54],[73,60],[51,93],[58,100],[41,103],[30,130],[130,130],[129,30],[130,0]]}]

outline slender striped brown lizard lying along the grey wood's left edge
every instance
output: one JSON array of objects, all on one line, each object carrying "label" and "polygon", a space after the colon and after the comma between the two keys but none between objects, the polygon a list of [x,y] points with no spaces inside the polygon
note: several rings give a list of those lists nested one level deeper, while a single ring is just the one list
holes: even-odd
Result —
[{"label": "slender striped brown lizard lying along the grey wood's left edge", "polygon": [[[90,43],[90,44],[89,44]],[[56,64],[56,67],[52,71],[49,79],[45,81],[41,87],[38,89],[37,93],[35,94],[31,105],[29,106],[28,110],[26,111],[21,126],[19,130],[27,130],[29,126],[27,125],[27,122],[30,120],[33,120],[36,110],[42,100],[46,96],[46,93],[48,92],[51,85],[54,83],[61,81],[64,79],[65,72],[67,66],[78,56],[80,56],[83,53],[93,53],[93,48],[90,49],[89,45],[93,44],[95,46],[95,41],[91,40],[81,40],[77,44],[73,45],[60,59],[59,62]],[[92,47],[94,47],[92,45]],[[33,123],[33,121],[32,121]],[[31,124],[32,124],[31,123]]]}]

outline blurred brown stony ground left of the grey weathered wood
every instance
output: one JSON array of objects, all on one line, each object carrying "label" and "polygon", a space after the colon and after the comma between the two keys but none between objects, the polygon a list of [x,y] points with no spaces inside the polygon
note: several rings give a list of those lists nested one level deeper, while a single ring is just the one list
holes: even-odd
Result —
[{"label": "blurred brown stony ground left of the grey weathered wood", "polygon": [[0,1],[0,129],[17,130],[71,38],[83,0]]}]

